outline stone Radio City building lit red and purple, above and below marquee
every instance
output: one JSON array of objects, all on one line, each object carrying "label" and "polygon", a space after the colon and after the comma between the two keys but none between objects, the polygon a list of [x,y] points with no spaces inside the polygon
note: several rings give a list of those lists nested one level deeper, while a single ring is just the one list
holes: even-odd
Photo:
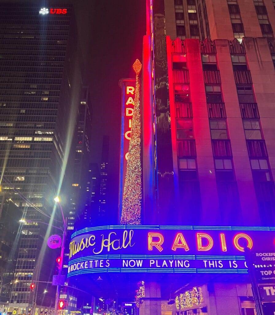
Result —
[{"label": "stone Radio City building lit red and purple, above and below marquee", "polygon": [[[274,225],[274,19],[272,1],[147,1],[143,224]],[[183,277],[173,298],[140,312],[256,314],[247,276]]]}]

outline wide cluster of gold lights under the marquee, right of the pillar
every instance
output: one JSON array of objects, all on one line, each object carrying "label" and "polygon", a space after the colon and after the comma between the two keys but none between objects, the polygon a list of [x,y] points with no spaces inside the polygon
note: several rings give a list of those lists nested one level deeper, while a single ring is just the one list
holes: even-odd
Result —
[{"label": "wide cluster of gold lights under the marquee, right of the pillar", "polygon": [[203,302],[203,295],[201,288],[194,287],[190,291],[185,291],[181,293],[179,296],[176,296],[175,303],[176,308],[185,309],[193,306],[198,306]]}]

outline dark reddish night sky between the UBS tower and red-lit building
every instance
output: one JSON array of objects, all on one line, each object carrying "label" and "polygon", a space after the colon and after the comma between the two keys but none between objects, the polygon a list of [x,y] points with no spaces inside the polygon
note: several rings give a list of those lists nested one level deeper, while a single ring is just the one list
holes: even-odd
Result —
[{"label": "dark reddish night sky between the UBS tower and red-lit building", "polygon": [[[92,160],[100,161],[102,135],[110,135],[107,201],[113,208],[115,220],[118,211],[121,120],[121,89],[118,80],[134,77],[132,64],[136,58],[142,60],[146,7],[145,0],[90,0],[86,3],[92,4],[87,20],[90,32],[86,33],[86,23],[81,22],[79,32],[81,42],[90,41],[84,57],[89,63],[87,82],[91,87],[93,102]],[[83,8],[80,8],[79,3],[77,5],[79,15]]]}]

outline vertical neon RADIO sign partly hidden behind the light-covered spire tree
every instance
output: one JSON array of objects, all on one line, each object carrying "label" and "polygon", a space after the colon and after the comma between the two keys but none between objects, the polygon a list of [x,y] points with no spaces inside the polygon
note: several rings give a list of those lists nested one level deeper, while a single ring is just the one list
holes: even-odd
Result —
[{"label": "vertical neon RADIO sign partly hidden behind the light-covered spire tree", "polygon": [[121,97],[121,138],[120,138],[120,169],[119,169],[119,196],[118,217],[122,210],[122,197],[126,175],[129,140],[131,139],[132,116],[134,113],[135,79],[121,79],[119,86],[122,90]]}]

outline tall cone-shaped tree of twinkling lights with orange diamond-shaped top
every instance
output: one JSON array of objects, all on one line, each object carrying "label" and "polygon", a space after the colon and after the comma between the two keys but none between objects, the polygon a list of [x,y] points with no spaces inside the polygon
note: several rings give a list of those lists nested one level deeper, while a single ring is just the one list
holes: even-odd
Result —
[{"label": "tall cone-shaped tree of twinkling lights with orange diamond-shaped top", "polygon": [[141,63],[133,64],[135,71],[135,99],[132,117],[131,139],[124,183],[120,224],[141,224],[141,123],[140,123],[140,79]]}]

